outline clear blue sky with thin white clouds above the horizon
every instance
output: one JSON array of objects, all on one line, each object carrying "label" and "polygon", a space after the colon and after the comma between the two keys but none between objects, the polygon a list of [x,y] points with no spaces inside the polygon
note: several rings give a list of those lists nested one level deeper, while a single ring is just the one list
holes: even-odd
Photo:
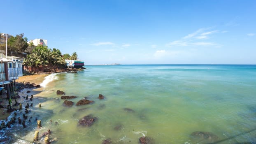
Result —
[{"label": "clear blue sky with thin white clouds above the horizon", "polygon": [[255,0],[0,3],[1,33],[47,39],[86,65],[256,64]]}]

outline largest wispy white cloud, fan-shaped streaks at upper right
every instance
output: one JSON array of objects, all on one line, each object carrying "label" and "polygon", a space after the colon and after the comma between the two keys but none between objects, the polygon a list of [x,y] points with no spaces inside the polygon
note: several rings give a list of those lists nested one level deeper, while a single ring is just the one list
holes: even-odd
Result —
[{"label": "largest wispy white cloud, fan-shaped streaks at upper right", "polygon": [[215,33],[220,33],[219,30],[210,30],[212,28],[200,28],[194,33],[186,35],[179,40],[169,42],[165,46],[221,46],[214,42],[205,42],[205,39],[210,39],[209,35],[214,35]]}]

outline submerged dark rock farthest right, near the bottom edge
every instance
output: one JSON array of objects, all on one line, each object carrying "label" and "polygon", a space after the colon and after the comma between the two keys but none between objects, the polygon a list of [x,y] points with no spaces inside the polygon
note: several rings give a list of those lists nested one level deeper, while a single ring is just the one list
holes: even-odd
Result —
[{"label": "submerged dark rock farthest right, near the bottom edge", "polygon": [[212,132],[192,132],[191,137],[195,139],[204,139],[212,142],[218,139],[218,136],[214,135]]}]

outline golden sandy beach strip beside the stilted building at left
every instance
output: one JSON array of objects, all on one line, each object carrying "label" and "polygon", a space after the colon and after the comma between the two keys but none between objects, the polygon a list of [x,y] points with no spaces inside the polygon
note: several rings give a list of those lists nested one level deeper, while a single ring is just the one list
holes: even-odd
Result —
[{"label": "golden sandy beach strip beside the stilted building at left", "polygon": [[[35,84],[41,84],[44,81],[44,77],[46,77],[49,74],[35,74],[35,75],[27,75],[23,77],[19,77],[19,79],[16,79],[16,82],[30,82]],[[26,93],[27,91],[30,91],[30,93]],[[21,103],[23,106],[26,105],[25,99],[23,96],[26,97],[26,95],[33,95],[34,97],[37,97],[37,95],[42,91],[41,88],[29,88],[24,89],[18,94],[21,96],[21,98],[17,98],[17,101]],[[6,106],[9,105],[8,101],[5,99],[6,96],[2,96],[2,102],[0,102],[0,105]],[[15,100],[12,100],[12,104],[15,104]],[[19,106],[14,106],[14,108],[19,109]],[[9,113],[7,112],[6,108],[0,108],[0,120],[4,120],[9,116]]]}]

